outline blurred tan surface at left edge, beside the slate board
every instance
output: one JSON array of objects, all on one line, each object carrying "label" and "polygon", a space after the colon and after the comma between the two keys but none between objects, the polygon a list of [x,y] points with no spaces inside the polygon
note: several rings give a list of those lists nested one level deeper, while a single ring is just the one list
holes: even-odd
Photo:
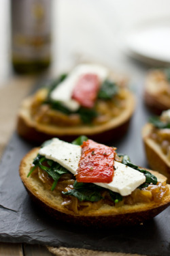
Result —
[{"label": "blurred tan surface at left edge, beside the slate board", "polygon": [[35,81],[37,80],[33,76],[14,77],[0,88],[0,158],[7,141],[16,129],[16,115],[20,102],[29,94]]}]

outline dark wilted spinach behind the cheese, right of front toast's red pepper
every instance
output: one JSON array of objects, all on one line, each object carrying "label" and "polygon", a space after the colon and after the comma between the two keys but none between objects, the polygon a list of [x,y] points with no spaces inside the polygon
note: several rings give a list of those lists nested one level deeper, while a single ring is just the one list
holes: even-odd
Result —
[{"label": "dark wilted spinach behind the cheese, right of front toast's red pepper", "polygon": [[146,176],[146,182],[144,182],[143,184],[141,184],[141,186],[139,186],[139,188],[144,188],[149,186],[149,184],[154,184],[156,185],[158,180],[157,177],[154,176],[152,173],[150,173],[149,171],[146,171],[145,169],[141,169],[139,168],[137,165],[134,165],[129,156],[127,155],[122,155],[122,154],[118,154],[118,156],[122,157],[122,164],[127,165],[137,171],[140,171],[141,173],[143,173]]}]

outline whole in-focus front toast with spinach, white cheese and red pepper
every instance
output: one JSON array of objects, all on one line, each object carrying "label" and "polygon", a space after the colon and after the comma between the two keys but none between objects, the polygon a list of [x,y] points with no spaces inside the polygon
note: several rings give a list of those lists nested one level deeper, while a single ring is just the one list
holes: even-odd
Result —
[{"label": "whole in-focus front toast with spinach, white cheese and red pepper", "polygon": [[134,225],[170,204],[165,176],[86,137],[72,143],[54,138],[34,148],[20,163],[20,177],[29,195],[66,223]]}]

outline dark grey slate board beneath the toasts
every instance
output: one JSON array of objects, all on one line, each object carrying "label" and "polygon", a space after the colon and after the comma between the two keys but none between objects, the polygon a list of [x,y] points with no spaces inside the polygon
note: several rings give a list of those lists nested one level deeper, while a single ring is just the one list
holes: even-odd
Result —
[{"label": "dark grey slate board beneath the toasts", "polygon": [[[118,147],[119,153],[129,154],[137,165],[147,167],[141,127],[150,114],[143,106],[142,87],[137,88],[137,109],[129,130],[120,141],[110,141],[109,144]],[[48,218],[31,201],[18,174],[21,158],[34,146],[14,133],[1,160],[1,242],[27,242],[152,256],[170,255],[170,208],[143,225],[112,230],[73,227]]]}]

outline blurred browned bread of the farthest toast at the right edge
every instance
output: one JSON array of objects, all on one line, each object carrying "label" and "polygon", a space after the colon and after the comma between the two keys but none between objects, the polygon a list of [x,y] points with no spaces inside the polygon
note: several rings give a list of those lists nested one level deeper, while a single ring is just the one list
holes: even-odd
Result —
[{"label": "blurred browned bread of the farthest toast at the right edge", "polygon": [[160,75],[160,70],[151,70],[146,78],[144,89],[144,100],[149,109],[157,115],[160,115],[163,111],[170,109],[169,96],[161,93],[163,81],[159,78]]}]

